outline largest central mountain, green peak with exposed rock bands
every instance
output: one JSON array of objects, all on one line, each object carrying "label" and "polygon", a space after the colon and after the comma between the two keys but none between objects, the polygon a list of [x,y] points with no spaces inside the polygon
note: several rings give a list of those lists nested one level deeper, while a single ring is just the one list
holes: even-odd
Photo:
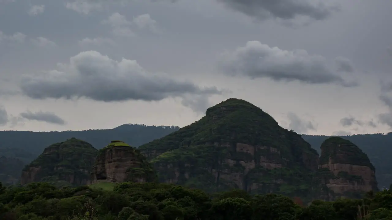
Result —
[{"label": "largest central mountain, green peak with exposed rock bands", "polygon": [[206,191],[308,197],[318,153],[301,135],[281,128],[267,113],[240,99],[207,109],[205,117],[139,147],[161,182]]}]

